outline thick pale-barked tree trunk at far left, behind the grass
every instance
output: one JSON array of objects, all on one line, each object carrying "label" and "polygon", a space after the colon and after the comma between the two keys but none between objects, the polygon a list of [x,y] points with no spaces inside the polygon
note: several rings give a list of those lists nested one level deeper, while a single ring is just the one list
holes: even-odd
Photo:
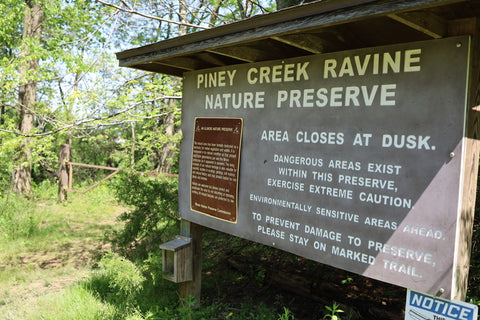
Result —
[{"label": "thick pale-barked tree trunk at far left, behind the grass", "polygon": [[[33,58],[34,46],[40,43],[42,33],[43,8],[39,1],[26,0],[23,21],[24,44],[20,52],[20,59],[24,60],[19,73],[22,83],[18,90],[18,103],[20,107],[20,120],[18,129],[28,135],[34,126],[35,100],[37,83],[34,80],[38,71],[38,58]],[[12,189],[15,193],[30,196],[32,194],[32,151],[31,139],[25,138],[15,159],[16,167],[12,173]]]}]

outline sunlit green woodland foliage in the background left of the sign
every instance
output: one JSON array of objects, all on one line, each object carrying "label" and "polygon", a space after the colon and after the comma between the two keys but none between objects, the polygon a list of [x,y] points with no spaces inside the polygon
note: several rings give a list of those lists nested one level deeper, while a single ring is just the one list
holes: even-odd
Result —
[{"label": "sunlit green woodland foliage in the background left of the sign", "polygon": [[[164,22],[137,19],[96,1],[40,1],[44,11],[41,41],[22,36],[25,1],[0,3],[0,194],[10,188],[11,172],[22,143],[18,132],[18,87],[26,81],[37,86],[34,129],[30,132],[34,183],[53,181],[59,146],[72,139],[73,161],[131,168],[165,170],[164,150],[171,150],[166,170],[176,172],[180,121],[178,79],[118,68],[114,52],[177,36],[180,28]],[[218,25],[255,15],[272,1],[249,3],[211,0],[186,2],[186,21]],[[121,5],[121,4],[120,4]],[[159,6],[145,1],[131,3],[134,10],[152,16],[179,19],[179,3]],[[131,32],[141,28],[142,32]],[[187,32],[196,31],[188,27]],[[28,47],[30,54],[21,55]],[[33,59],[38,70],[19,72]],[[171,117],[174,127],[171,133]],[[169,133],[166,133],[166,131]],[[123,143],[115,141],[122,140]],[[77,182],[97,181],[101,170],[76,170]]]}]

